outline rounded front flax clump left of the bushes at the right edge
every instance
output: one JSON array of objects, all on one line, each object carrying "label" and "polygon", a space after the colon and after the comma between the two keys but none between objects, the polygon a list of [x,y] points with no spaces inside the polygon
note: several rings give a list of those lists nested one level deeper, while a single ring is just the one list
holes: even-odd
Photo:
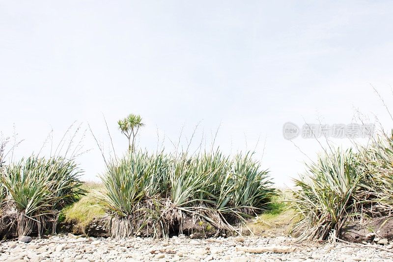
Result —
[{"label": "rounded front flax clump left of the bushes at the right edge", "polygon": [[292,200],[303,219],[297,226],[306,226],[301,239],[325,240],[334,231],[338,234],[346,219],[356,209],[356,194],[363,170],[352,150],[321,155],[308,165],[308,171],[295,179]]}]

